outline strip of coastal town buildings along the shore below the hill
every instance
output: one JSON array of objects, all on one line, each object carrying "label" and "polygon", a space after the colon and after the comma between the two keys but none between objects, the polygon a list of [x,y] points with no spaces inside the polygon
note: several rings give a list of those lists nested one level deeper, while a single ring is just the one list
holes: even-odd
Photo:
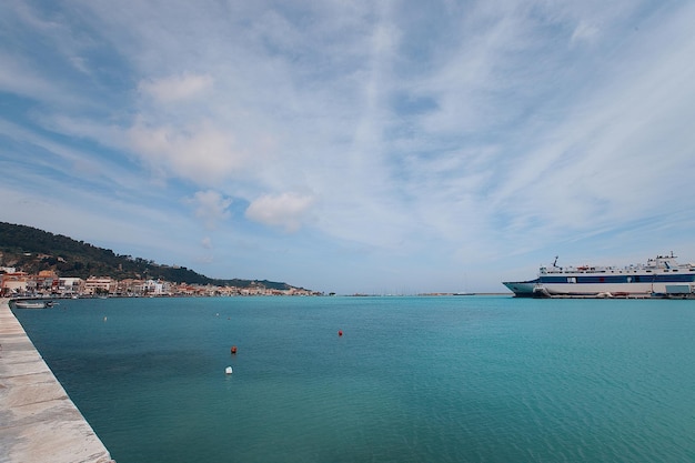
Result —
[{"label": "strip of coastal town buildings along the shore below the hill", "polygon": [[59,276],[52,270],[29,274],[0,266],[0,295],[3,298],[150,298],[150,296],[238,296],[238,295],[322,295],[302,288],[271,289],[261,282],[249,286],[174,283],[153,279],[115,280],[111,276],[87,279]]}]

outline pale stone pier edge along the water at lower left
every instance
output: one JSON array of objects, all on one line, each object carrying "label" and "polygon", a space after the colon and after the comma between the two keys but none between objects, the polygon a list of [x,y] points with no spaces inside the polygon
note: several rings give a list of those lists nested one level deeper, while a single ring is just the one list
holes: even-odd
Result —
[{"label": "pale stone pier edge along the water at lower left", "polygon": [[113,461],[0,299],[0,463],[34,462]]}]

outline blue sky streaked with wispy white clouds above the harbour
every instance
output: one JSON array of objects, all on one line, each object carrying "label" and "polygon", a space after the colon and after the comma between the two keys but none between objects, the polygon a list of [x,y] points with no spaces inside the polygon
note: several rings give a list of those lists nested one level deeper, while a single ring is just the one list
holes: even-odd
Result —
[{"label": "blue sky streaked with wispy white clouds above the harbour", "polygon": [[689,1],[0,2],[0,220],[213,278],[695,261]]}]

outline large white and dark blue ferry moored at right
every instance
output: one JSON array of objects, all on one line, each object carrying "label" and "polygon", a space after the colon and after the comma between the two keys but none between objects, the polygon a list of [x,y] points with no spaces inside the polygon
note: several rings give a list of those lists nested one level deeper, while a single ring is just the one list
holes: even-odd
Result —
[{"label": "large white and dark blue ferry moored at right", "polygon": [[626,266],[542,266],[538,278],[503,282],[517,298],[552,296],[693,296],[695,264],[658,255],[646,264]]}]

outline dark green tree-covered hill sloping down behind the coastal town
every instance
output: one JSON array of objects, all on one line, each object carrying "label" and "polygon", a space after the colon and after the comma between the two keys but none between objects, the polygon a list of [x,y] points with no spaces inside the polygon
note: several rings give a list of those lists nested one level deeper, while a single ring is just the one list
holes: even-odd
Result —
[{"label": "dark green tree-covered hill sloping down behind the coastal town", "polygon": [[53,270],[60,276],[111,276],[117,280],[161,279],[175,283],[291,289],[286,283],[256,280],[215,280],[184,266],[161,265],[141,258],[75,241],[27,225],[0,222],[0,265],[28,273]]}]

